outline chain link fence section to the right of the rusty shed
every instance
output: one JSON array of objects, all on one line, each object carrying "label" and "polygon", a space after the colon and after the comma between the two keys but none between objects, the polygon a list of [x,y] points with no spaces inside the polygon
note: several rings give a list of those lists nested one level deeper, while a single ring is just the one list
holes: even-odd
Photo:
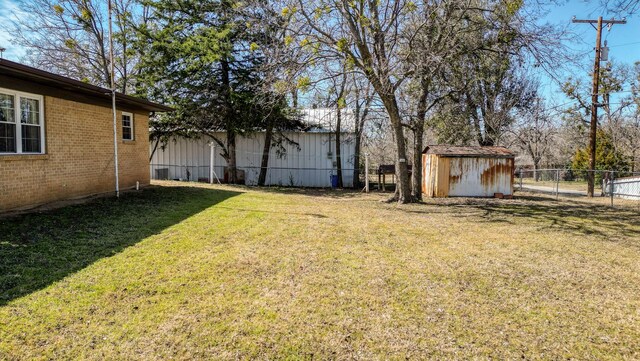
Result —
[{"label": "chain link fence section to the right of the rusty shed", "polygon": [[587,198],[588,180],[594,178],[593,199],[610,205],[640,204],[640,172],[578,169],[516,169],[517,191],[553,196],[556,199]]}]

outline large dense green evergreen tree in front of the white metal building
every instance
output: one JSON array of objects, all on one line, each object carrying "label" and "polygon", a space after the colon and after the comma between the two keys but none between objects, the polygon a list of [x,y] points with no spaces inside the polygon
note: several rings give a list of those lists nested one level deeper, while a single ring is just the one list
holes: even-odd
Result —
[{"label": "large dense green evergreen tree in front of the white metal building", "polygon": [[[145,1],[150,21],[138,28],[143,54],[138,92],[173,104],[176,112],[152,120],[156,144],[172,134],[208,135],[222,148],[229,181],[237,181],[236,137],[289,120],[286,102],[265,92],[261,29],[248,5],[234,0]],[[224,131],[225,139],[214,135]]]}]

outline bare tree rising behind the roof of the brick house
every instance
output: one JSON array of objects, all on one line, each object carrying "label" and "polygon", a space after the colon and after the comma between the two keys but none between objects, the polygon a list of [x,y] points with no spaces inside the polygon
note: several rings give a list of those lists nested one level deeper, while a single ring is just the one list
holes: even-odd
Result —
[{"label": "bare tree rising behind the roof of the brick house", "polygon": [[[135,0],[113,0],[114,63],[121,92],[132,89],[137,57],[130,49],[133,23],[144,21],[145,9]],[[22,15],[8,25],[13,41],[27,49],[33,66],[108,87],[109,39],[107,3],[97,0],[21,0]]]}]

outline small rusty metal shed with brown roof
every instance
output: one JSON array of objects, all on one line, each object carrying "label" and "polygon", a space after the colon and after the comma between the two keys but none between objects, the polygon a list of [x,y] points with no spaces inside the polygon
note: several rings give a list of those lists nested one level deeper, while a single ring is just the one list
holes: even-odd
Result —
[{"label": "small rusty metal shed with brown roof", "polygon": [[504,147],[429,145],[422,152],[422,193],[427,197],[511,196],[514,158]]}]

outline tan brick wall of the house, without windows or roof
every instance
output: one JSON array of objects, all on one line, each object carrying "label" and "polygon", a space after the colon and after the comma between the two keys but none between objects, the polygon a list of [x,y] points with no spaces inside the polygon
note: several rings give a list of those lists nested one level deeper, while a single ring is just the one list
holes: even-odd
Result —
[{"label": "tan brick wall of the house, without windows or roof", "polygon": [[[45,155],[0,155],[0,212],[114,192],[111,108],[45,96]],[[118,112],[120,188],[149,184],[149,126],[134,114],[135,140],[122,140]]]}]

